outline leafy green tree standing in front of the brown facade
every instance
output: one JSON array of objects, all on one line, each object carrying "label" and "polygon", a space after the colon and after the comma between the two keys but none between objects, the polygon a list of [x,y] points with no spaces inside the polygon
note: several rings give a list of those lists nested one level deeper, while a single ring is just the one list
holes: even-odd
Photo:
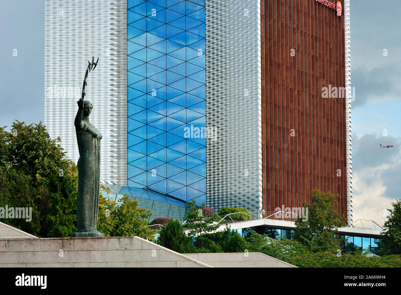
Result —
[{"label": "leafy green tree standing in front of the brown facade", "polygon": [[303,203],[308,208],[308,218],[297,218],[294,239],[307,246],[313,252],[335,252],[340,249],[341,240],[338,238],[338,227],[345,226],[345,219],[333,205],[338,205],[336,199],[339,195],[323,193],[312,189],[309,196],[310,204]]}]

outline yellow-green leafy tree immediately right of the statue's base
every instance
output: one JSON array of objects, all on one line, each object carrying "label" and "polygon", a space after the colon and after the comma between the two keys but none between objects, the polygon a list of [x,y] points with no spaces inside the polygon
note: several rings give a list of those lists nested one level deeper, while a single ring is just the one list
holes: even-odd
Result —
[{"label": "yellow-green leafy tree immediately right of the statue's base", "polygon": [[[108,187],[101,185],[101,188],[109,192]],[[138,204],[128,195],[116,203],[100,193],[97,230],[105,236],[139,236],[153,242],[156,230],[148,227],[148,219],[153,213],[146,208],[138,208]]]}]

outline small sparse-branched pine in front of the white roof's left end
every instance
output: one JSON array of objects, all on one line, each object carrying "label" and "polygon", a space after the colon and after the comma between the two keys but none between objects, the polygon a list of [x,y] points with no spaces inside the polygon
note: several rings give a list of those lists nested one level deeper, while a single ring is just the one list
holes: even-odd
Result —
[{"label": "small sparse-branched pine in front of the white roof's left end", "polygon": [[205,208],[205,203],[198,206],[196,205],[196,201],[191,199],[190,202],[186,203],[188,207],[186,216],[184,219],[186,220],[186,227],[192,229],[188,236],[194,238],[197,236],[196,240],[199,241],[199,248],[203,249],[203,240],[205,239],[205,234],[212,232],[219,228],[219,224],[215,222],[215,217],[207,217],[203,215],[203,209]]}]

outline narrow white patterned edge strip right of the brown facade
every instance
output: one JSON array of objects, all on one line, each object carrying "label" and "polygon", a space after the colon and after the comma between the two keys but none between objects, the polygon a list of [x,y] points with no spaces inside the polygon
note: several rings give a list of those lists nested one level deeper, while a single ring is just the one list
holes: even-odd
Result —
[{"label": "narrow white patterned edge strip right of the brown facade", "polygon": [[352,138],[351,138],[351,101],[355,99],[351,88],[351,35],[350,0],[344,0],[345,26],[345,120],[346,120],[346,159],[347,159],[347,223],[352,223]]}]

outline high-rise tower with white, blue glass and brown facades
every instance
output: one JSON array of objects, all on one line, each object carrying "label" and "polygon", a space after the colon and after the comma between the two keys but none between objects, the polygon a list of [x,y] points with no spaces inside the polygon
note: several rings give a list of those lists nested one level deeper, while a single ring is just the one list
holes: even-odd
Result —
[{"label": "high-rise tower with white, blue glass and brown facades", "polygon": [[99,56],[87,97],[101,182],[255,217],[299,207],[316,187],[340,193],[350,220],[340,3],[341,15],[326,0],[46,0],[45,124],[77,161],[77,75]]}]

